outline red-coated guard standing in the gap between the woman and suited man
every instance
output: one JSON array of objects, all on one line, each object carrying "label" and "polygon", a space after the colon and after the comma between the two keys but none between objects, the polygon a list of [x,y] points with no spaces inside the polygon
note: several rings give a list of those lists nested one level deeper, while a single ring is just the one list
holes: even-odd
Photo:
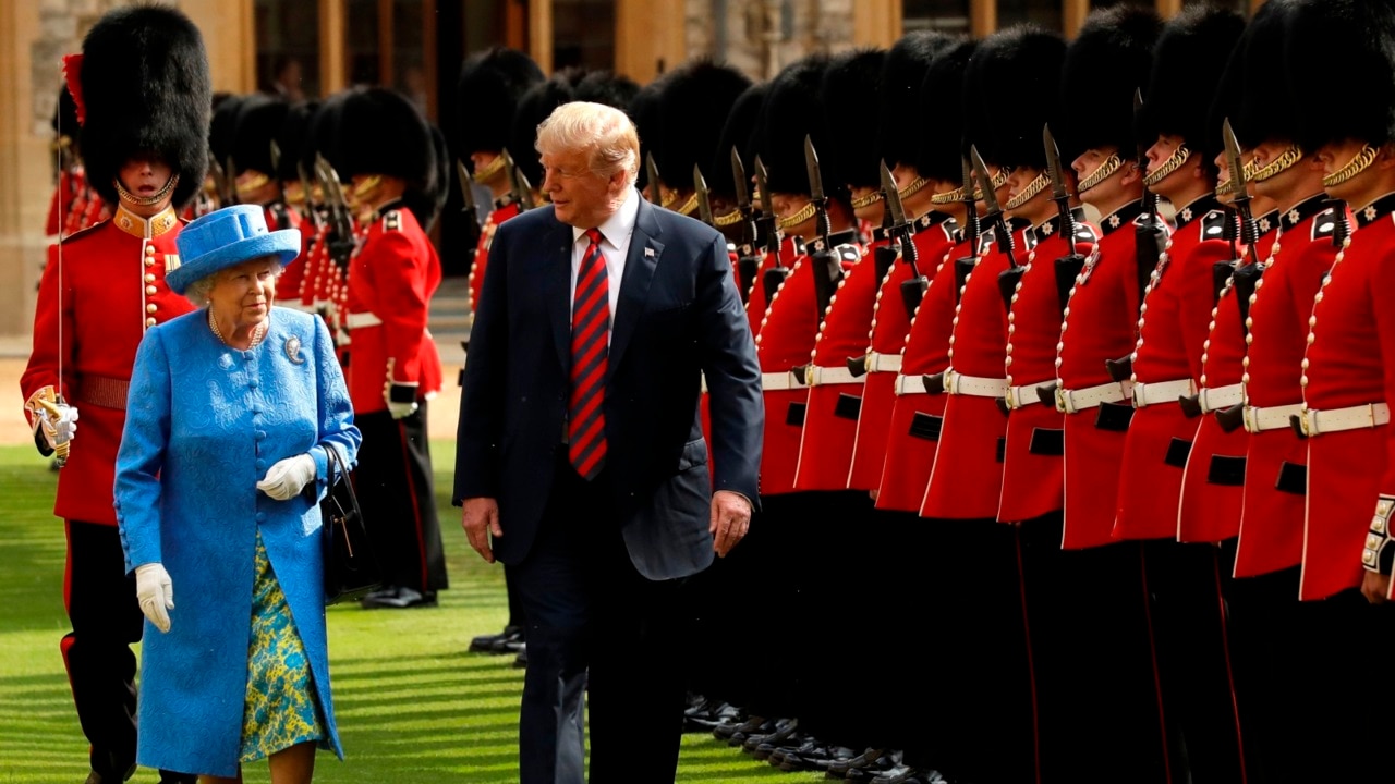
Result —
[{"label": "red-coated guard standing in the gap between the woman and suited man", "polygon": [[364,607],[434,605],[446,587],[432,494],[427,400],[441,391],[441,359],[427,331],[441,261],[425,236],[442,181],[430,127],[381,88],[343,102],[340,174],[372,208],[349,272],[349,396],[364,435],[354,485],[381,548],[381,591]]}]

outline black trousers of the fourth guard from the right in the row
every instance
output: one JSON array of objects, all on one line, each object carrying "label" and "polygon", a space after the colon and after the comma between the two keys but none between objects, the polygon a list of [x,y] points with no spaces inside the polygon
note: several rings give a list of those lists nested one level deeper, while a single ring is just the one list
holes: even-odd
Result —
[{"label": "black trousers of the fourth guard from the right in the row", "polygon": [[1214,544],[1144,543],[1172,770],[1191,784],[1244,781],[1223,561]]}]

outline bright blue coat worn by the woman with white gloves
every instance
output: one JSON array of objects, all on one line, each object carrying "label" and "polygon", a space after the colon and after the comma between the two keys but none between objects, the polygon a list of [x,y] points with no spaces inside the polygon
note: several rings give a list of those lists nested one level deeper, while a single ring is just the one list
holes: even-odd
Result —
[{"label": "bright blue coat worn by the woman with white gloves", "polygon": [[[265,340],[239,352],[199,310],[153,326],[131,375],[116,467],[126,568],[163,564],[170,631],[145,624],[141,764],[234,776],[247,689],[257,532],[310,657],[340,757],[329,693],[324,554],[317,498],[325,448],[350,465],[359,428],[333,340],[319,318],[272,308]],[[257,490],[266,469],[310,452],[318,481],[289,501]]]}]

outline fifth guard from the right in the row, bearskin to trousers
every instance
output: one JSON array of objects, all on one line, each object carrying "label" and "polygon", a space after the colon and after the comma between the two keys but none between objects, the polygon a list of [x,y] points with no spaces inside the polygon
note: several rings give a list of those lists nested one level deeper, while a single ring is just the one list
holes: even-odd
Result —
[{"label": "fifth guard from the right in the row, bearskin to trousers", "polygon": [[[1066,308],[1056,386],[1043,391],[1042,400],[1064,414],[1062,569],[1055,594],[1041,597],[1042,610],[1062,621],[1053,649],[1064,657],[1042,661],[1039,670],[1049,678],[1069,674],[1081,685],[1069,698],[1074,720],[1064,724],[1088,744],[1088,751],[1074,748],[1078,764],[1067,767],[1083,781],[1169,781],[1143,551],[1110,536],[1133,407],[1127,385],[1106,368],[1133,350],[1140,269],[1144,276],[1152,271],[1156,237],[1166,237],[1155,197],[1144,199],[1133,133],[1134,96],[1148,81],[1161,28],[1151,10],[1115,6],[1091,14],[1066,53],[1060,120],[1053,126],[1078,152],[1070,165],[1081,201],[1102,216],[1094,252],[1077,259],[1078,266],[1056,262]],[[1084,112],[1083,96],[1092,100]],[[1056,755],[1048,759],[1060,763]]]}]

